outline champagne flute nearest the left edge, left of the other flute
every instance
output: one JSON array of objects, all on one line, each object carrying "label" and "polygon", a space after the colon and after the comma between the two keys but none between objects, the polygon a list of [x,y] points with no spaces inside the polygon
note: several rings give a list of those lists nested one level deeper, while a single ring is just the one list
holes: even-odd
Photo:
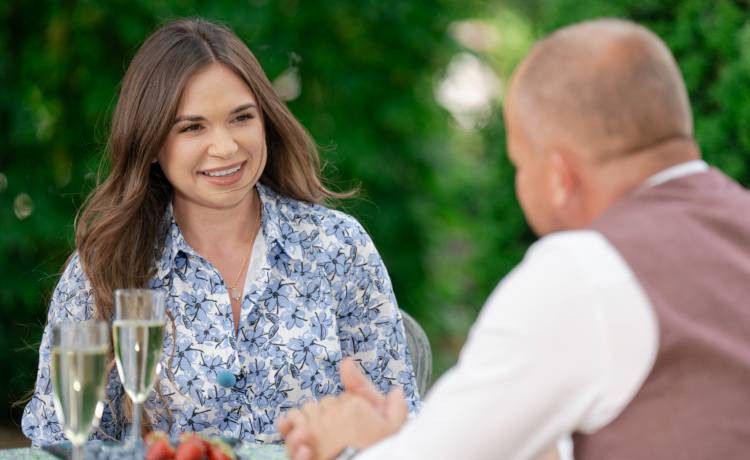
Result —
[{"label": "champagne flute nearest the left edge, left of the other flute", "polygon": [[73,444],[73,460],[104,411],[109,327],[104,321],[65,321],[52,326],[52,392],[63,433]]}]

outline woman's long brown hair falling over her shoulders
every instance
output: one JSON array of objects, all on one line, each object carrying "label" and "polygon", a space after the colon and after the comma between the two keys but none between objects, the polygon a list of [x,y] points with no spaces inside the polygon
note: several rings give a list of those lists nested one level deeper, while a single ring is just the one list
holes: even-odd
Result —
[{"label": "woman's long brown hair falling over her shoulders", "polygon": [[[163,249],[161,220],[172,186],[154,160],[185,84],[215,62],[242,78],[258,102],[268,151],[261,183],[311,203],[353,194],[336,193],[322,184],[315,143],[231,30],[198,18],[169,22],[143,43],[125,73],[100,180],[76,218],[76,246],[97,319],[112,319],[115,289],[145,287],[155,274]],[[101,180],[107,164],[109,172]]]}]

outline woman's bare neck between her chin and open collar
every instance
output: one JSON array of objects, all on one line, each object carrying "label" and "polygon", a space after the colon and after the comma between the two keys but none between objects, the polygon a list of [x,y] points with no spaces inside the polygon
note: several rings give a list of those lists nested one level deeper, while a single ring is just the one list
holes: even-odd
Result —
[{"label": "woman's bare neck between her chin and open collar", "polygon": [[260,227],[261,203],[255,188],[229,208],[209,208],[180,197],[174,197],[172,203],[185,241],[203,255],[245,247]]}]

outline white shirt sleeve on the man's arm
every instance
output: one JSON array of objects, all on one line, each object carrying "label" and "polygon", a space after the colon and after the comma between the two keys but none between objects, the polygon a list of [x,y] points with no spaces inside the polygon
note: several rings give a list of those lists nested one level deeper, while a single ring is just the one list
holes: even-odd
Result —
[{"label": "white shirt sleeve on the man's arm", "polygon": [[487,300],[419,416],[357,459],[533,459],[612,421],[657,344],[647,297],[600,234],[545,237]]}]

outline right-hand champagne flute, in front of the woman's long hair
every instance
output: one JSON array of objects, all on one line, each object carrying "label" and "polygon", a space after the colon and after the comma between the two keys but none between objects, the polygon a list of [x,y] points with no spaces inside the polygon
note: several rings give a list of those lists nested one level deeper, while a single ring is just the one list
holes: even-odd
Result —
[{"label": "right-hand champagne flute, in front of the woman's long hair", "polygon": [[128,445],[143,449],[141,411],[158,371],[164,338],[164,292],[153,289],[115,290],[112,336],[115,363],[125,392],[133,401]]}]

